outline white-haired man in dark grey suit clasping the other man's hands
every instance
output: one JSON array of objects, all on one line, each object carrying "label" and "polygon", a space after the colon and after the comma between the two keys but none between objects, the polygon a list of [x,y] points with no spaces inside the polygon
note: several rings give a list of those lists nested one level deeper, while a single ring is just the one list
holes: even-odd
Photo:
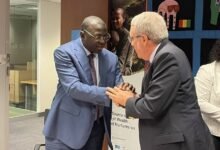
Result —
[{"label": "white-haired man in dark grey suit clasping the other man's hands", "polygon": [[[140,95],[130,84],[108,88],[107,95],[126,116],[139,119],[142,150],[214,150],[202,120],[191,68],[184,52],[168,40],[164,19],[144,12],[132,19],[131,44],[150,62]],[[128,86],[128,87],[126,87]]]}]

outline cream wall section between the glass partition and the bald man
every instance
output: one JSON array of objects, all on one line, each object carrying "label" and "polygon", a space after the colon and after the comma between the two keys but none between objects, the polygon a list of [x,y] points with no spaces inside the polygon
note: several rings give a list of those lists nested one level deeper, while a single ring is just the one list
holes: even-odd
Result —
[{"label": "cream wall section between the glass partition and the bald man", "polygon": [[60,45],[61,4],[39,0],[37,44],[37,111],[50,108],[57,75],[53,52]]}]

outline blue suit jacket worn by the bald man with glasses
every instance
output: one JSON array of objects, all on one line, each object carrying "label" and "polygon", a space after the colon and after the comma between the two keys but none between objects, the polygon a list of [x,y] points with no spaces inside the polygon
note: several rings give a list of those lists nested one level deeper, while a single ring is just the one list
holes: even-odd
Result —
[{"label": "blue suit jacket worn by the bald man with glasses", "polygon": [[44,135],[80,149],[91,133],[96,105],[105,106],[110,126],[111,103],[106,87],[122,82],[118,58],[103,49],[99,57],[99,87],[93,86],[89,60],[80,39],[61,45],[54,52],[59,83],[44,127]]}]

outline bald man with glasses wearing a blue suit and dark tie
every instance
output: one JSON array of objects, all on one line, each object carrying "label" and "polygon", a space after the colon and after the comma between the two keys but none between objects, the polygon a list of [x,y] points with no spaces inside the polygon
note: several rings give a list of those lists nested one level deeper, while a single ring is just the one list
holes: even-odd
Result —
[{"label": "bald man with glasses wearing a blue suit and dark tie", "polygon": [[102,149],[111,118],[106,87],[122,82],[117,56],[104,48],[109,38],[103,20],[89,16],[80,38],[55,50],[59,82],[44,127],[46,150]]}]

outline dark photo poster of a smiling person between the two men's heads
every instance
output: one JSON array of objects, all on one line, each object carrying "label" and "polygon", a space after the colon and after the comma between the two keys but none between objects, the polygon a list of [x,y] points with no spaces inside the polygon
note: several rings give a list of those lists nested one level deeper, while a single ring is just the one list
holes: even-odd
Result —
[{"label": "dark photo poster of a smiling person between the two men's heads", "polygon": [[109,7],[108,49],[118,56],[122,75],[135,74],[143,70],[144,62],[129,41],[130,22],[135,15],[146,11],[146,0],[112,0]]}]

